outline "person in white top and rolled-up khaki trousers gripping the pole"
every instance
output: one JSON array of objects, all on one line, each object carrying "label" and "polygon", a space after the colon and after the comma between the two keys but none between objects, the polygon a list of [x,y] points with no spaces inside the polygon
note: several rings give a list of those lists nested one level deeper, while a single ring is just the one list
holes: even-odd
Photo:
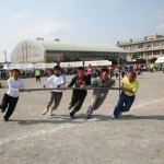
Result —
[{"label": "person in white top and rolled-up khaki trousers gripping the pole", "polygon": [[[50,87],[54,87],[54,89],[65,87],[66,77],[61,74],[60,66],[54,67],[54,74],[47,79],[47,81],[43,84],[43,87],[45,89],[48,84],[50,84]],[[49,116],[52,116],[52,110],[58,108],[61,98],[62,98],[62,90],[50,91],[50,96],[47,103],[47,108],[43,112],[43,115],[49,112]],[[52,102],[54,102],[54,105],[52,105]]]}]

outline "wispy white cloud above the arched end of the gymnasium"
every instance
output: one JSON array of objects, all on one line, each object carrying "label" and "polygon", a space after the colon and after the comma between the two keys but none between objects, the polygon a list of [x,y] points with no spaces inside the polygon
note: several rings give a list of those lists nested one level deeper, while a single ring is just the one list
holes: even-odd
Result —
[{"label": "wispy white cloud above the arched end of the gymnasium", "polygon": [[37,25],[28,26],[21,32],[13,34],[13,38],[30,38],[30,37],[50,37],[59,33],[68,32],[71,30],[70,24],[63,24],[60,22],[45,22]]}]

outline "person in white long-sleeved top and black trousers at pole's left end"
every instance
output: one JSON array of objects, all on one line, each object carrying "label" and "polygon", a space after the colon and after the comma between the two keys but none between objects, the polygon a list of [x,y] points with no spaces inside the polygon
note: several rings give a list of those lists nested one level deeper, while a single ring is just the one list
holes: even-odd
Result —
[{"label": "person in white long-sleeved top and black trousers at pole's left end", "polygon": [[7,93],[4,93],[0,105],[2,113],[7,110],[5,115],[3,116],[4,121],[8,121],[10,116],[13,114],[19,101],[19,94],[20,92],[23,92],[23,89],[25,89],[23,81],[20,79],[20,71],[17,69],[13,69],[12,78],[8,80],[9,89]]}]

